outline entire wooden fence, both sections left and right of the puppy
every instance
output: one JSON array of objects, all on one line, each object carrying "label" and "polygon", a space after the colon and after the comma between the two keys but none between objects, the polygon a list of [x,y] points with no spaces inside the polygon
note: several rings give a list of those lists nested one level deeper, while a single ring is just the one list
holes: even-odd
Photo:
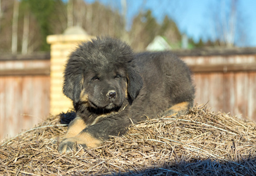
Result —
[{"label": "entire wooden fence, both sections left and right of the puppy", "polygon": [[[194,72],[195,103],[256,121],[256,49],[175,51]],[[49,53],[0,56],[0,140],[50,113]]]}]

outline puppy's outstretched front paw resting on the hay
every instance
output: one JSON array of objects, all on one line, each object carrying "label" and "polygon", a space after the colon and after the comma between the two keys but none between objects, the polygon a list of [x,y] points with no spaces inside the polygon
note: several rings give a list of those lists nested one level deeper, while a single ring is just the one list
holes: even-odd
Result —
[{"label": "puppy's outstretched front paw resting on the hay", "polygon": [[[73,137],[71,138],[66,138],[64,140],[61,141],[61,143],[59,144],[58,147],[58,152],[60,154],[64,154],[64,153],[71,153],[74,150],[78,150],[78,146],[77,146],[77,140]],[[81,145],[83,148],[87,148],[87,145],[85,144],[79,144]]]}]

